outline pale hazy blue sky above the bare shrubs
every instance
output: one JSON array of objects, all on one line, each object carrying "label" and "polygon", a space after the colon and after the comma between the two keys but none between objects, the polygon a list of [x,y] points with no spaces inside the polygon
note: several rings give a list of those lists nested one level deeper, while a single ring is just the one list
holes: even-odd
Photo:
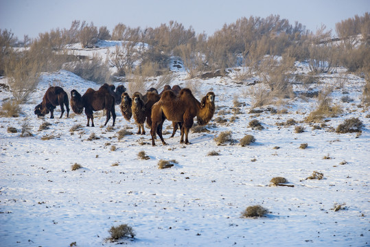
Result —
[{"label": "pale hazy blue sky above the bare shrubs", "polygon": [[335,23],[370,12],[370,0],[0,0],[0,29],[19,39],[36,38],[51,29],[71,27],[73,20],[96,27],[124,23],[130,27],[158,27],[177,21],[197,34],[211,36],[241,17],[279,14],[291,25],[298,21],[315,31],[324,24],[335,34]]}]

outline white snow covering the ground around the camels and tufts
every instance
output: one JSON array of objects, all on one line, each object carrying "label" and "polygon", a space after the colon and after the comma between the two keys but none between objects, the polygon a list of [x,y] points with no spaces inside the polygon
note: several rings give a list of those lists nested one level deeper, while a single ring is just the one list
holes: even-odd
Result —
[{"label": "white snow covering the ground around the camels and tufts", "polygon": [[[307,64],[296,66],[301,73],[307,72]],[[320,75],[321,84],[312,89],[335,84],[343,76],[340,70]],[[316,99],[297,97],[273,106],[286,108],[286,114],[250,114],[247,86],[235,82],[231,73],[197,81],[198,99],[207,91],[216,94],[218,110],[207,126],[210,132],[191,132],[190,145],[179,143],[179,131],[171,139],[165,134],[168,145],[157,139],[157,146],[152,147],[148,128],[146,135],[117,139],[123,128],[137,132],[133,120],[126,121],[118,106],[113,131],[107,128],[112,120],[102,127],[101,112],[95,113],[94,128],[85,127],[86,116],[72,110],[69,118],[58,119],[59,107],[55,119],[49,115],[38,119],[34,106],[50,85],[62,86],[68,94],[72,89],[84,93],[100,86],[68,71],[44,73],[30,102],[22,105],[21,117],[0,117],[1,246],[69,246],[73,242],[77,246],[369,246],[370,119],[369,111],[358,107],[365,80],[346,76],[344,89],[332,93],[333,103],[344,112],[326,124],[336,128],[344,119],[358,117],[365,125],[359,136],[336,134],[329,128],[313,130],[303,122],[316,107]],[[184,87],[185,78],[185,72],[176,72],[172,85]],[[299,89],[298,84],[294,86]],[[12,96],[1,91],[1,102]],[[354,102],[341,102],[343,91]],[[242,103],[238,115],[231,111],[235,97]],[[218,115],[220,110],[224,115]],[[238,118],[231,122],[233,116]],[[216,117],[228,121],[218,124]],[[291,118],[305,131],[297,134],[294,126],[277,126]],[[252,119],[258,119],[264,130],[249,128]],[[33,137],[7,132],[9,126],[20,131],[23,121],[30,124]],[[43,121],[51,126],[38,131]],[[71,132],[76,124],[82,129]],[[214,137],[228,130],[235,140],[252,134],[256,142],[246,147],[238,142],[217,145]],[[168,121],[163,127],[166,131],[172,132]],[[91,133],[100,139],[88,141]],[[47,135],[55,138],[43,141]],[[308,143],[308,148],[300,149],[301,143]],[[113,145],[117,150],[111,150]],[[150,159],[140,160],[141,151]],[[212,151],[220,156],[208,156]],[[177,164],[158,169],[161,159],[174,159]],[[75,163],[83,168],[72,171]],[[314,171],[324,178],[306,180]],[[294,187],[269,186],[276,176],[287,178]],[[332,210],[336,203],[345,204],[345,209]],[[246,207],[256,204],[268,209],[266,217],[240,217]],[[132,226],[135,239],[106,241],[111,226],[119,224]]]}]

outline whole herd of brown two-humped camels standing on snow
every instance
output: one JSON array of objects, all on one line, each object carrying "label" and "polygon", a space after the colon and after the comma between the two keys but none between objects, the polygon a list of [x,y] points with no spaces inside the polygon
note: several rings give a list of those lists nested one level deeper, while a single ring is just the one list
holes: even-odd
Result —
[{"label": "whole herd of brown two-humped camels standing on snow", "polygon": [[[163,145],[166,145],[162,128],[165,119],[172,121],[173,131],[171,137],[174,137],[176,130],[181,129],[180,143],[189,144],[188,134],[194,124],[194,117],[198,124],[205,125],[213,117],[215,112],[215,94],[207,93],[205,97],[198,101],[190,89],[181,89],[180,86],[166,85],[161,93],[157,89],[150,88],[145,95],[136,92],[130,97],[123,85],[117,86],[103,84],[100,89],[87,89],[84,95],[81,95],[73,89],[71,91],[71,108],[74,113],[80,115],[84,110],[87,117],[86,126],[94,127],[93,112],[106,110],[106,121],[104,126],[113,117],[113,126],[115,126],[115,105],[119,105],[122,116],[127,121],[131,117],[135,120],[139,130],[137,134],[146,134],[144,123],[150,126],[152,136],[152,145],[155,145],[154,139],[157,134]],[[44,117],[50,113],[50,118],[54,118],[54,109],[60,106],[62,118],[65,108],[67,108],[67,117],[69,117],[69,102],[67,93],[60,86],[50,86],[45,92],[43,102],[34,108],[34,113],[38,117]]]}]

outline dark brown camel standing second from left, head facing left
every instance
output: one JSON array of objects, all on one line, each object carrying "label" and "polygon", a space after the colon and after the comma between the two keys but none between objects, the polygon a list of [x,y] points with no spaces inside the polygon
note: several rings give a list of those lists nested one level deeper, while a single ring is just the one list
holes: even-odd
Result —
[{"label": "dark brown camel standing second from left, head facing left", "polygon": [[74,113],[81,114],[85,108],[85,114],[87,117],[86,126],[94,127],[93,112],[97,110],[106,110],[106,121],[104,126],[113,116],[113,126],[115,126],[115,98],[111,95],[108,84],[104,84],[98,91],[94,89],[87,89],[84,95],[80,95],[78,91],[73,89],[71,91],[71,108]]}]

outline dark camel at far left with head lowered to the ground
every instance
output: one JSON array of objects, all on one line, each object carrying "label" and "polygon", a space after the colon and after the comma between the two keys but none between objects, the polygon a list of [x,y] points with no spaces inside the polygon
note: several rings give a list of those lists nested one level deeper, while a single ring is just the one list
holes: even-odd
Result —
[{"label": "dark camel at far left with head lowered to the ground", "polygon": [[67,117],[69,117],[67,93],[60,86],[50,86],[43,97],[43,102],[35,107],[34,113],[37,117],[44,117],[50,113],[50,118],[54,119],[54,109],[56,106],[60,106],[62,110],[59,118],[62,118],[63,113],[65,113],[65,108],[67,108]]}]

